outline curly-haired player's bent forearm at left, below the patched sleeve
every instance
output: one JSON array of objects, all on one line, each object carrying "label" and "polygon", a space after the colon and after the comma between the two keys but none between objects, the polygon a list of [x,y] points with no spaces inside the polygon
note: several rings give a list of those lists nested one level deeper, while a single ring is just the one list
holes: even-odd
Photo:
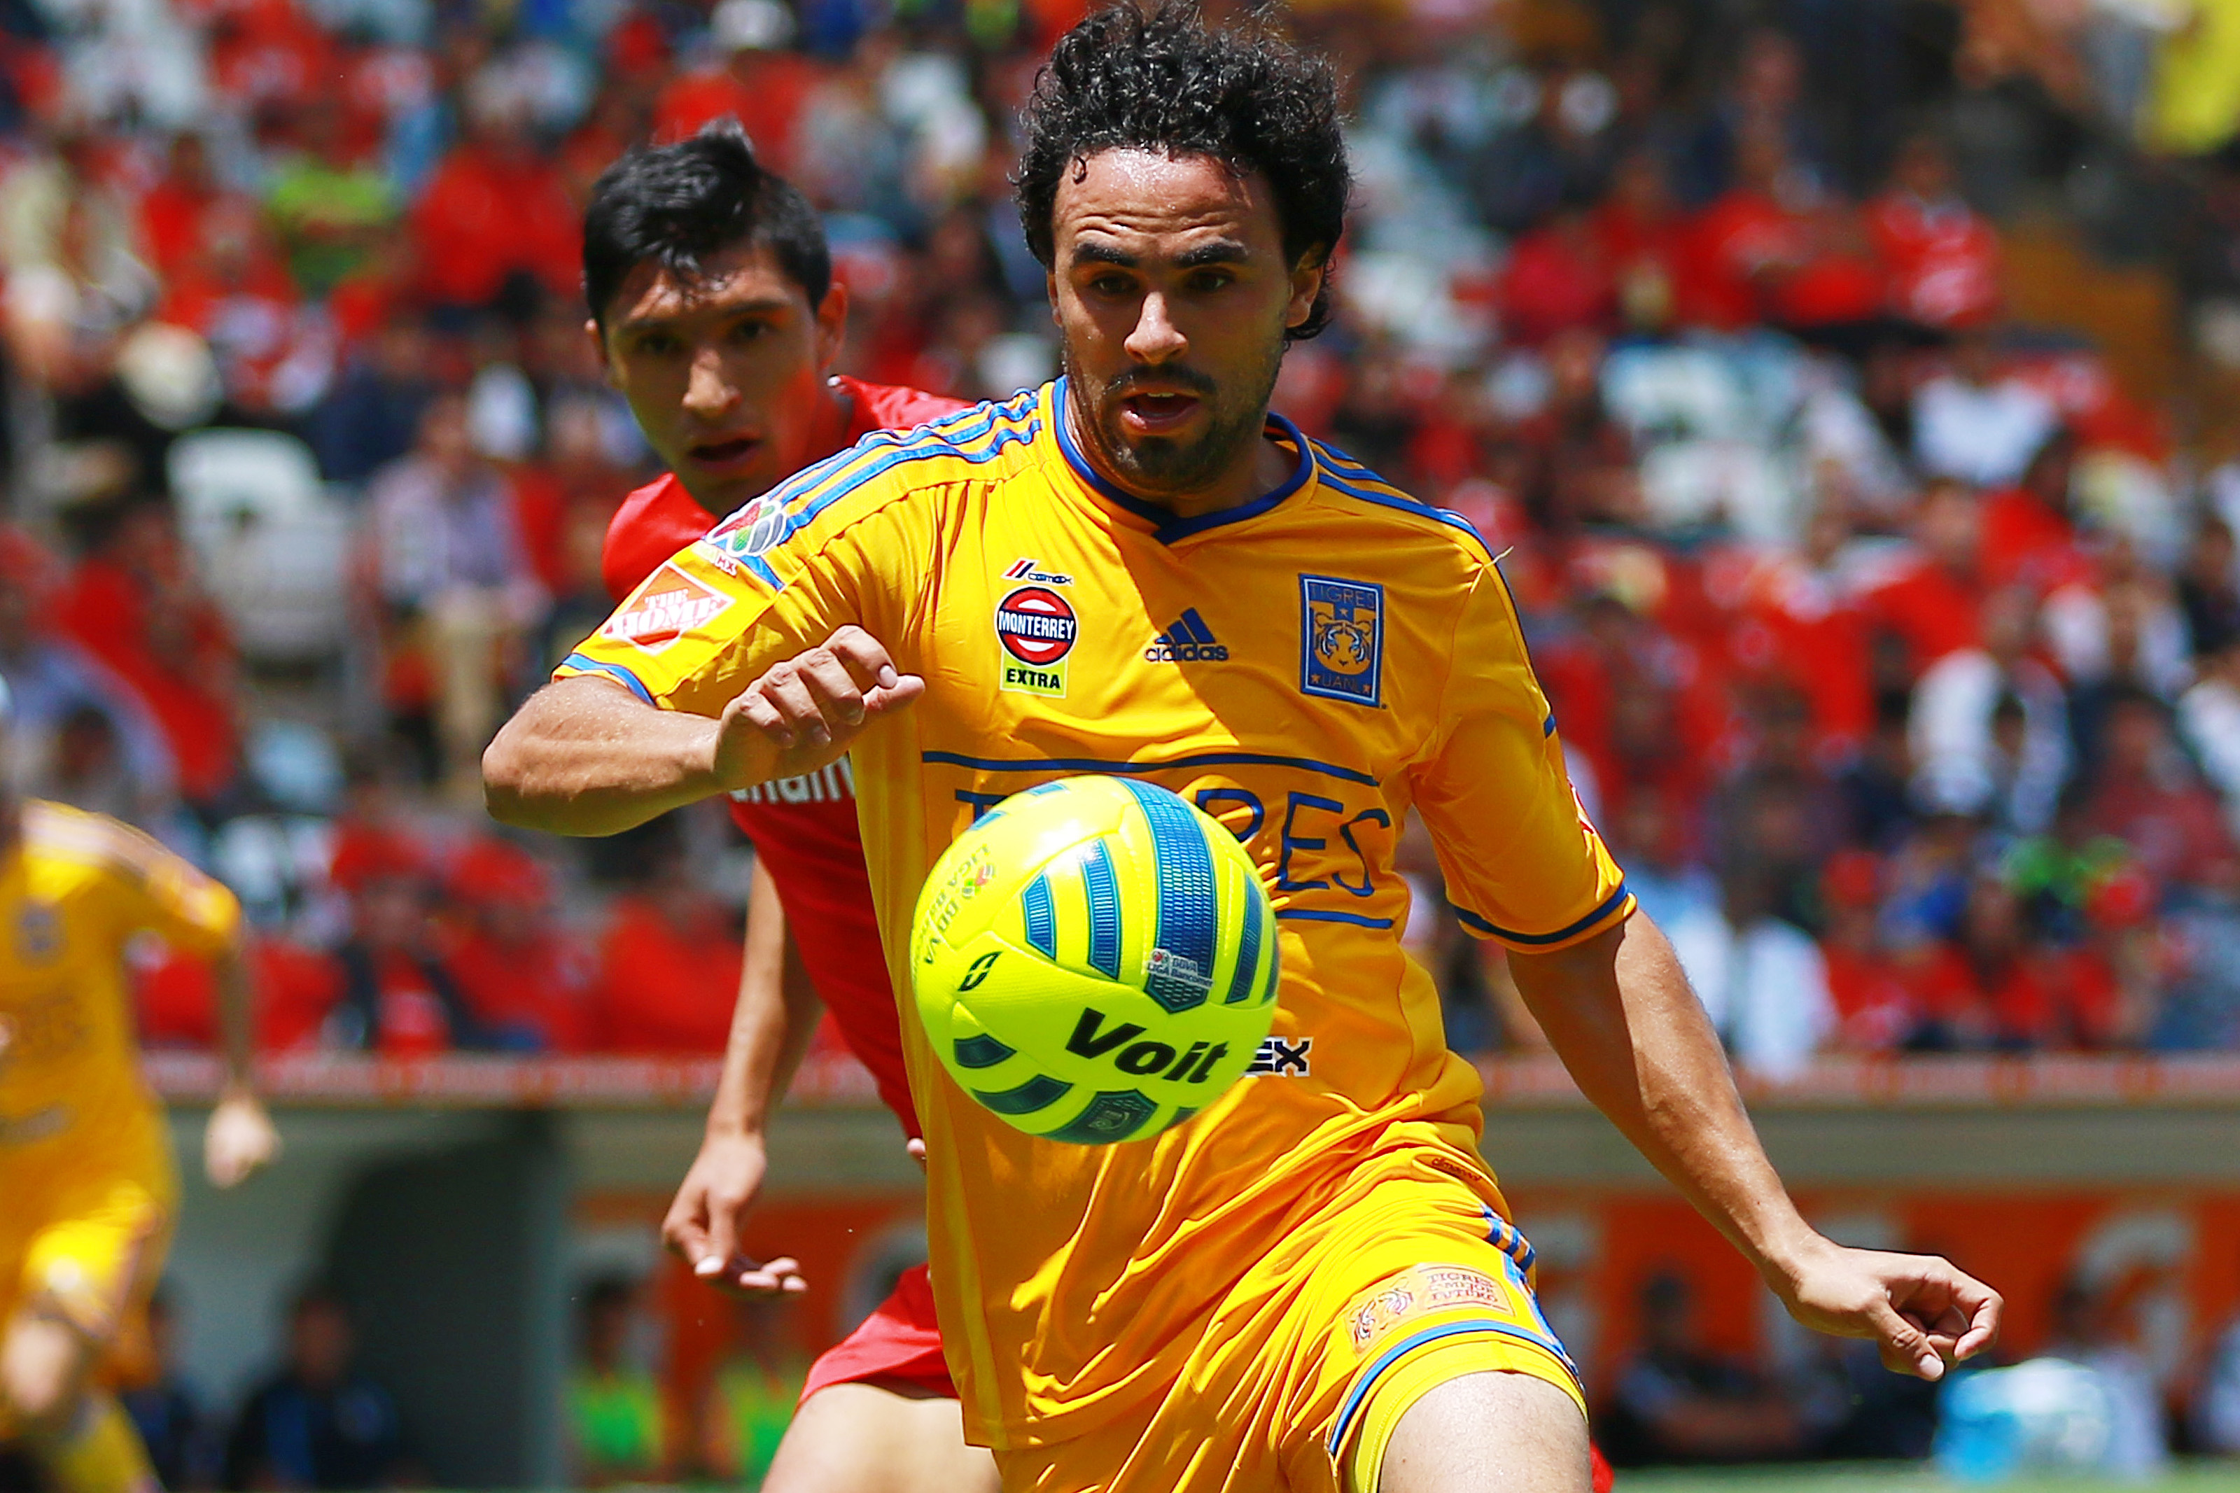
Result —
[{"label": "curly-haired player's bent forearm at left, below the patched sleeve", "polygon": [[719,727],[620,685],[564,678],[529,696],[482,754],[491,817],[553,835],[614,835],[721,790]]}]

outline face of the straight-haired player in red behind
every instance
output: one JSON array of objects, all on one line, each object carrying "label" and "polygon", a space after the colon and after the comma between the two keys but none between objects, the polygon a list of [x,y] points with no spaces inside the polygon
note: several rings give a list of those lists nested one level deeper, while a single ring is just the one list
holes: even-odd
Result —
[{"label": "face of the straight-haired player in red behind", "polygon": [[638,264],[591,336],[654,454],[726,515],[838,445],[824,369],[844,325],[844,289],[811,307],[768,246],[744,244],[692,280]]}]

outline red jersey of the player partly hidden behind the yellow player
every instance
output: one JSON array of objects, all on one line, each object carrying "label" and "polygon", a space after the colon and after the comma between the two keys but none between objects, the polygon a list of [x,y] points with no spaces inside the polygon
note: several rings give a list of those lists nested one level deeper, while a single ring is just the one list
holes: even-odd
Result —
[{"label": "red jersey of the player partly hidden behind the yellow player", "polygon": [[[907,430],[965,407],[923,389],[900,389],[858,378],[833,378],[849,396],[853,419],[844,443],[874,430]],[[600,575],[616,600],[699,539],[724,517],[708,513],[674,475],[652,481],[629,497],[607,526]],[[809,983],[840,1027],[849,1050],[871,1070],[878,1097],[918,1133],[903,1070],[903,1027],[887,983],[887,956],[871,915],[871,880],[862,868],[862,837],[856,828],[856,779],[847,761],[809,777],[788,777],[735,795],[730,817],[755,842],[755,855],[777,882],[777,902]]]}]

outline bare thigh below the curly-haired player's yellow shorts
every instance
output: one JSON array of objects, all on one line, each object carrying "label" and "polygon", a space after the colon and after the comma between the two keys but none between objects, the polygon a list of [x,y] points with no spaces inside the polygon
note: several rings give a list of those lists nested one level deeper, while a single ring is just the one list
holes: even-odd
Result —
[{"label": "bare thigh below the curly-haired player's yellow shorts", "polygon": [[1375,1493],[1588,1493],[1590,1482],[1579,1403],[1534,1374],[1483,1372],[1431,1386],[1400,1415]]}]

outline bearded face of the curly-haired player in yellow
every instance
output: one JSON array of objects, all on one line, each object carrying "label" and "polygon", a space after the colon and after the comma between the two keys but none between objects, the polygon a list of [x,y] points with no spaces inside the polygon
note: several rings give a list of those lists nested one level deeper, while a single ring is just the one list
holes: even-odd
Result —
[{"label": "bearded face of the curly-haired player in yellow", "polygon": [[1268,181],[1102,150],[1057,184],[1051,228],[1064,419],[1089,461],[1185,517],[1279,483],[1295,459],[1261,430],[1322,266],[1284,257]]}]

